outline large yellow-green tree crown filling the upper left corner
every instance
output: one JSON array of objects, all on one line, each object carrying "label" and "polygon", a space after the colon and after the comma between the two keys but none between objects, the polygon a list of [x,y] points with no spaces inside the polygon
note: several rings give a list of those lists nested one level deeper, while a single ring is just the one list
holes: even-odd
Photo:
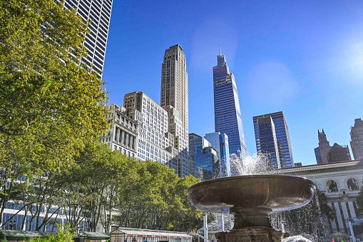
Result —
[{"label": "large yellow-green tree crown filling the upper left corner", "polygon": [[63,3],[0,0],[0,164],[62,168],[105,130],[103,82],[81,64],[87,31]]}]

